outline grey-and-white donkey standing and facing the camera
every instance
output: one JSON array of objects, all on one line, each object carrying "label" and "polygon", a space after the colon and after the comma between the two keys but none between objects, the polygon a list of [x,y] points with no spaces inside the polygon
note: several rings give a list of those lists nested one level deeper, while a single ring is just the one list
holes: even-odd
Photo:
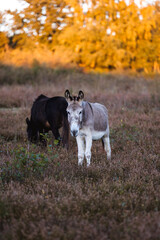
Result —
[{"label": "grey-and-white donkey standing and facing the camera", "polygon": [[[84,93],[79,91],[78,96],[71,96],[65,91],[68,102],[67,113],[71,135],[76,137],[78,145],[78,165],[83,164],[84,155],[87,167],[91,161],[92,140],[102,139],[107,159],[111,159],[109,140],[108,111],[104,105],[83,101]],[[84,149],[84,139],[86,148]]]}]

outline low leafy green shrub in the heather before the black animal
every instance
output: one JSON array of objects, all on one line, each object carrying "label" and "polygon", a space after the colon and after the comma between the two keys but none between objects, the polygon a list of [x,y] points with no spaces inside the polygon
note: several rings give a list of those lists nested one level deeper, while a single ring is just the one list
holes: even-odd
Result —
[{"label": "low leafy green shrub in the heather before the black animal", "polygon": [[2,182],[11,179],[23,181],[26,177],[43,176],[44,170],[48,167],[49,163],[57,157],[57,154],[53,154],[52,145],[47,147],[47,154],[36,153],[33,150],[29,151],[20,146],[10,151],[10,155],[12,162],[5,162],[0,170]]}]

